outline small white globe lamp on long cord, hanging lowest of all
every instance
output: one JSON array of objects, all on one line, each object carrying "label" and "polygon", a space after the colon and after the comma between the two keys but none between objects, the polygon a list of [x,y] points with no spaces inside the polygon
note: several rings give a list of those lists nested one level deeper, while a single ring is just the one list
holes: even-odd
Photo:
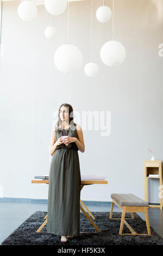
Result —
[{"label": "small white globe lamp on long cord, hanging lowest of all", "polygon": [[91,2],[91,61],[84,66],[85,75],[89,77],[96,76],[99,71],[98,65],[92,62],[92,5],[93,0]]}]

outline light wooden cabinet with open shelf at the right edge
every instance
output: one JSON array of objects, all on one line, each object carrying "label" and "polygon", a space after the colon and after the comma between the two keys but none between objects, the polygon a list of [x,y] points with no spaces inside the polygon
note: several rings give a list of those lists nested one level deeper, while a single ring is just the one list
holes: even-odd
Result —
[{"label": "light wooden cabinet with open shelf at the right edge", "polygon": [[158,196],[160,194],[160,205],[149,204],[149,206],[159,207],[160,209],[162,209],[162,206],[163,206],[162,162],[161,161],[144,161],[144,171],[145,171],[145,200],[148,202],[148,179],[159,179],[160,190],[158,190]]}]

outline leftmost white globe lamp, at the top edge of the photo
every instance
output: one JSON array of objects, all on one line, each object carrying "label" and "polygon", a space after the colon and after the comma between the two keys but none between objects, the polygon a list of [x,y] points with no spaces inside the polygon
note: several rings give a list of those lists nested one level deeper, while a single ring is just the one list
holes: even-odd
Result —
[{"label": "leftmost white globe lamp, at the top edge of the photo", "polygon": [[32,2],[23,1],[18,5],[17,13],[23,21],[32,21],[37,15],[37,8]]}]

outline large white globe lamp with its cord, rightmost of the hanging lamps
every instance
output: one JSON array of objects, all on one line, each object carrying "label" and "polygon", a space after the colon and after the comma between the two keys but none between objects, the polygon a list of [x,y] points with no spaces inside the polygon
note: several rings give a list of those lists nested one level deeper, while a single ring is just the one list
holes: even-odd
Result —
[{"label": "large white globe lamp with its cord, rightmost of the hanging lamps", "polygon": [[121,42],[114,40],[114,0],[112,21],[112,40],[105,42],[100,51],[101,60],[107,66],[120,65],[126,58],[126,48],[121,44]]}]

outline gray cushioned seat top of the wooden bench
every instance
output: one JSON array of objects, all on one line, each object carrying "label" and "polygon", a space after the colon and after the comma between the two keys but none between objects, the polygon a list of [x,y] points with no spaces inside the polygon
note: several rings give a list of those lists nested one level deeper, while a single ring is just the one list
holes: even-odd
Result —
[{"label": "gray cushioned seat top of the wooden bench", "polygon": [[134,194],[111,194],[114,199],[121,206],[148,206],[148,202],[142,200]]}]

